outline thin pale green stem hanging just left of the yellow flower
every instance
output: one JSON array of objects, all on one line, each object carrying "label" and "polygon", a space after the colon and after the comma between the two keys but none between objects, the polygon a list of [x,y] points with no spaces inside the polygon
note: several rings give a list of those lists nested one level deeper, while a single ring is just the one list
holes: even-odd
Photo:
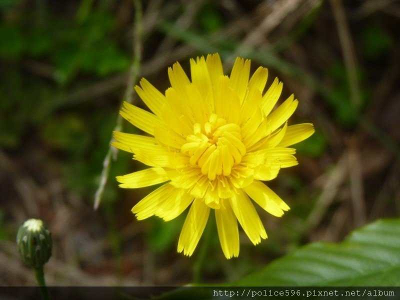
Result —
[{"label": "thin pale green stem hanging just left of the yellow flower", "polygon": [[[128,103],[133,102],[133,85],[137,81],[139,69],[140,69],[140,61],[141,61],[141,35],[142,35],[142,8],[140,0],[134,0],[135,7],[135,18],[134,18],[134,35],[133,35],[133,61],[130,66],[128,82],[125,90],[125,95],[123,97],[123,101]],[[123,102],[122,101],[122,102]],[[122,129],[122,117],[118,114],[115,127],[113,131],[121,131]],[[112,138],[110,142],[112,141]],[[107,154],[103,160],[103,169],[101,171],[100,183],[94,195],[94,205],[93,208],[96,210],[100,205],[101,196],[104,191],[105,184],[107,183],[108,173],[111,166],[111,156],[115,160],[117,156],[117,149],[113,147],[109,147]]]}]

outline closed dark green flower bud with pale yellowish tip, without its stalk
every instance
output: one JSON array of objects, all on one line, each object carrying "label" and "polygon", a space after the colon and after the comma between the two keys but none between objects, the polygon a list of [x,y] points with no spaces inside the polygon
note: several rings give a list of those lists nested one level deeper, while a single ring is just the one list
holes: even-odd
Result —
[{"label": "closed dark green flower bud with pale yellowish tip, without its stalk", "polygon": [[51,256],[50,231],[39,219],[28,219],[18,229],[16,243],[24,263],[33,268],[42,268]]}]

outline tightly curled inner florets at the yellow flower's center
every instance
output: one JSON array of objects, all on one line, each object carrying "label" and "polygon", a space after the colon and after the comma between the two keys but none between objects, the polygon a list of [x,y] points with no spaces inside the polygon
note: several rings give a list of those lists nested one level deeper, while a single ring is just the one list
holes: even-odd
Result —
[{"label": "tightly curled inner florets at the yellow flower's center", "polygon": [[240,127],[235,123],[226,123],[224,118],[212,113],[207,122],[193,125],[193,134],[186,137],[181,151],[190,156],[192,166],[201,168],[208,179],[216,175],[229,176],[232,167],[240,163],[246,153],[242,142]]}]

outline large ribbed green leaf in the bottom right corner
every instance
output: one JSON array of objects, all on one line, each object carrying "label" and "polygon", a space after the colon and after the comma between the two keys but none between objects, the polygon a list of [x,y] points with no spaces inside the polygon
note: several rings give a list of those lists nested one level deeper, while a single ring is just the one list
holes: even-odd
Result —
[{"label": "large ribbed green leaf in the bottom right corner", "polygon": [[233,285],[398,286],[400,218],[378,220],[340,243],[314,242]]}]

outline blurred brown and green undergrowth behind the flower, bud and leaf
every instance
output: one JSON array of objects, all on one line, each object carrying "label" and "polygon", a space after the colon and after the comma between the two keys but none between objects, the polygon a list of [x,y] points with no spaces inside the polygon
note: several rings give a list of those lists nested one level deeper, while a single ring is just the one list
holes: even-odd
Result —
[{"label": "blurred brown and green undergrowth behind the flower, bud and leaf", "polygon": [[[35,284],[15,244],[30,217],[52,232],[48,285],[181,285],[232,281],[400,214],[399,1],[141,5],[135,21],[132,0],[0,1],[0,285]],[[219,52],[229,73],[236,56],[250,58],[252,70],[268,67],[267,85],[283,81],[281,99],[299,99],[291,124],[316,128],[296,146],[299,165],[267,182],[291,210],[259,211],[268,239],[253,246],[241,231],[238,258],[224,258],[213,217],[192,257],[176,252],[185,213],[137,221],[130,209],[151,188],[117,187],[115,175],[144,168],[128,153],[112,161],[93,210],[134,47],[138,78],[161,91],[176,60],[189,73],[189,57]]]}]

